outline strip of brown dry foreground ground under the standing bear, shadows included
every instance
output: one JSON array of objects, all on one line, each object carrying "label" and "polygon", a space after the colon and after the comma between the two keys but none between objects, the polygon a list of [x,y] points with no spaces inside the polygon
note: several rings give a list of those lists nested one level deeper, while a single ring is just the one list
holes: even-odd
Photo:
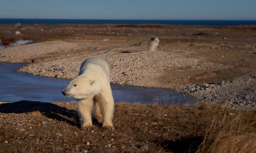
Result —
[{"label": "strip of brown dry foreground ground under the standing bear, shadows included", "polygon": [[[79,129],[75,102],[0,105],[0,152],[255,152],[256,112],[116,103],[115,131]],[[17,120],[18,119],[18,120]],[[43,124],[46,121],[47,124]]]}]

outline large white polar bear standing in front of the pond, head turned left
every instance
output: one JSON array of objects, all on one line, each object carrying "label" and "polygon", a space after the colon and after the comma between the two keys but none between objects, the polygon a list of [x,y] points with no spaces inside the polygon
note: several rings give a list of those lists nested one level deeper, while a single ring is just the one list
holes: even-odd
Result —
[{"label": "large white polar bear standing in front of the pond, head turned left", "polygon": [[92,110],[95,104],[94,119],[103,122],[102,128],[114,130],[114,98],[110,87],[108,63],[101,58],[86,59],[77,77],[62,91],[66,97],[76,98],[81,129],[92,128]]}]

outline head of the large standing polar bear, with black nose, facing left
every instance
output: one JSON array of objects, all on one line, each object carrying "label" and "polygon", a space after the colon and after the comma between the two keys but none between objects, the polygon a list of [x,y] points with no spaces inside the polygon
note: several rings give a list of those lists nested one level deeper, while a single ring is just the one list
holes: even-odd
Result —
[{"label": "head of the large standing polar bear, with black nose, facing left", "polygon": [[80,75],[68,83],[68,86],[62,91],[66,97],[77,99],[93,98],[102,90],[102,83],[99,79],[92,76]]}]

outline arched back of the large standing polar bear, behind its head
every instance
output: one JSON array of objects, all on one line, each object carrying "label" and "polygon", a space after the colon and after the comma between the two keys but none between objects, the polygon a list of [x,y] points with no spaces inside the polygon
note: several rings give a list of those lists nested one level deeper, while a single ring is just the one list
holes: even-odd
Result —
[{"label": "arched back of the large standing polar bear, behind its head", "polygon": [[84,62],[81,64],[78,75],[83,74],[83,72],[86,70],[88,65],[91,65],[91,64],[100,66],[103,69],[103,71],[106,73],[106,76],[108,76],[108,80],[110,81],[110,70],[108,67],[108,63],[98,57],[91,57],[91,58],[84,60]]}]

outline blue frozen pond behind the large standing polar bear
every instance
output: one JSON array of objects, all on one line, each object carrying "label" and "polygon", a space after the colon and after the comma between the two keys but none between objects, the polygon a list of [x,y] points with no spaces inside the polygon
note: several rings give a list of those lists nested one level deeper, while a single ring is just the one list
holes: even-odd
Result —
[{"label": "blue frozen pond behind the large standing polar bear", "polygon": [[[70,80],[28,75],[26,72],[14,72],[26,63],[0,63],[0,101],[41,101],[65,102],[75,98],[65,97],[61,91]],[[165,88],[147,88],[111,84],[115,102],[141,103],[194,103],[195,100],[182,93]]]}]

